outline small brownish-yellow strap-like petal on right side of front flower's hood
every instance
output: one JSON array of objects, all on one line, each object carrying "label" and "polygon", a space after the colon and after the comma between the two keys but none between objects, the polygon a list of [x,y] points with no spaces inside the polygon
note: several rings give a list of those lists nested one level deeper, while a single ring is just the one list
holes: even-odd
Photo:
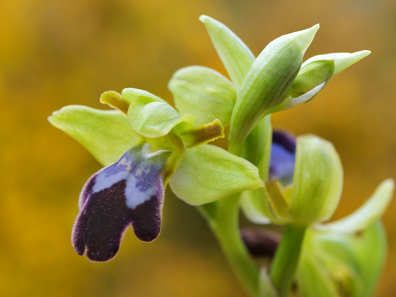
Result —
[{"label": "small brownish-yellow strap-like petal on right side of front flower's hood", "polygon": [[218,119],[180,133],[186,148],[198,147],[224,136],[224,127]]}]

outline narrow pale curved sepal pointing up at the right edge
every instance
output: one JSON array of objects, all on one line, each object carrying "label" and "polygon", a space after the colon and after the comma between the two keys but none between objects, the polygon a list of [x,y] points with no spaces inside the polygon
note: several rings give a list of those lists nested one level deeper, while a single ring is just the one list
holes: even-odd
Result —
[{"label": "narrow pale curved sepal pointing up at the right edge", "polygon": [[381,218],[391,202],[395,183],[392,179],[385,180],[359,209],[340,220],[318,225],[319,230],[331,230],[339,233],[355,233],[366,229],[374,221]]}]

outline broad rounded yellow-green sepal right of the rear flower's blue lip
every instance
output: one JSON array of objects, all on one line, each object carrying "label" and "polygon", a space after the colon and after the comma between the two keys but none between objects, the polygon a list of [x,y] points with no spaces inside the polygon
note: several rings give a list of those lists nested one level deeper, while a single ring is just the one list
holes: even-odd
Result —
[{"label": "broad rounded yellow-green sepal right of the rear flower's blue lip", "polygon": [[291,222],[308,226],[328,220],[337,208],[342,185],[343,167],[334,146],[314,135],[297,137]]}]

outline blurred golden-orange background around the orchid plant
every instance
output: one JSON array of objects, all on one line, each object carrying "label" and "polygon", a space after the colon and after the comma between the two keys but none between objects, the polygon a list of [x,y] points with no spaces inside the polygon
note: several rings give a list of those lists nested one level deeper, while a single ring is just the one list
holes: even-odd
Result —
[{"label": "blurred golden-orange background around the orchid plant", "polygon": [[[67,104],[96,108],[107,90],[148,90],[172,102],[167,82],[188,65],[225,70],[200,14],[228,25],[256,55],[273,39],[320,23],[305,57],[372,50],[275,127],[332,141],[345,167],[336,213],[358,207],[396,176],[394,0],[0,2],[0,296],[240,297],[205,222],[170,191],[152,244],[128,230],[108,263],[70,245],[79,192],[100,165],[47,116]],[[389,257],[378,296],[396,296],[396,202],[384,222]],[[245,222],[246,223],[246,222]],[[370,256],[370,255],[367,255]]]}]

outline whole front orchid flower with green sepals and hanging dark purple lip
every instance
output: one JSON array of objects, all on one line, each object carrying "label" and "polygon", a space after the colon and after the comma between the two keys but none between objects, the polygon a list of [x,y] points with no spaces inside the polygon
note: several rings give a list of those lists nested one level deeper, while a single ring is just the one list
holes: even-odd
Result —
[{"label": "whole front orchid flower with green sepals and hanging dark purple lip", "polygon": [[247,160],[206,143],[224,137],[217,119],[195,126],[194,115],[179,113],[147,91],[110,91],[100,101],[116,110],[71,105],[49,117],[105,165],[84,185],[72,244],[92,261],[117,253],[132,225],[144,242],[161,230],[165,188],[200,205],[262,186]]}]

